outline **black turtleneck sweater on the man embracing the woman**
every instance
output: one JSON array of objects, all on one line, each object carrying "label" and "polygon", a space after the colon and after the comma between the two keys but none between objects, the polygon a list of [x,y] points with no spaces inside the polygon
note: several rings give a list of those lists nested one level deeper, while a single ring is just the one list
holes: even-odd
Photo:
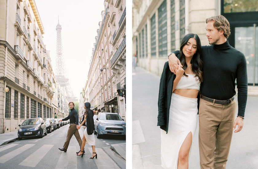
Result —
[{"label": "black turtleneck sweater on the man embracing the woman", "polygon": [[[238,115],[244,117],[247,101],[247,68],[244,54],[229,45],[202,46],[203,82],[201,94],[216,100],[228,100],[238,89]],[[177,56],[179,51],[173,52]]]}]

